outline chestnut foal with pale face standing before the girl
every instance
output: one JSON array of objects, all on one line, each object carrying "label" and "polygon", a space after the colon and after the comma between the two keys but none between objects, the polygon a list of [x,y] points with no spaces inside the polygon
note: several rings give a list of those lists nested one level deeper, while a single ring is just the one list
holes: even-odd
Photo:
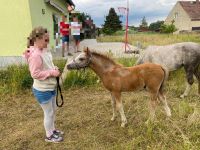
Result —
[{"label": "chestnut foal with pale face standing before the girl", "polygon": [[170,108],[167,105],[163,93],[164,81],[168,77],[168,72],[158,64],[146,63],[133,67],[123,67],[116,64],[109,57],[84,49],[79,56],[68,63],[67,68],[81,69],[90,67],[101,79],[105,88],[112,96],[113,116],[116,118],[116,111],[121,115],[121,127],[127,124],[124,114],[121,92],[141,90],[146,88],[150,93],[150,120],[155,117],[156,100],[159,99],[165,109],[166,115],[171,116]]}]

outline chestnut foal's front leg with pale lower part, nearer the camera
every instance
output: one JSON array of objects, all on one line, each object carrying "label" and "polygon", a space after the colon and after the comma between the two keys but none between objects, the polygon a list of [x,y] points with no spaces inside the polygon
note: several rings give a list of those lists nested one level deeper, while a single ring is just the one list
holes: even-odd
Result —
[{"label": "chestnut foal's front leg with pale lower part, nearer the camera", "polygon": [[122,120],[121,127],[125,127],[125,125],[127,124],[127,119],[124,114],[124,109],[123,109],[123,105],[122,105],[122,101],[121,101],[121,93],[113,92],[112,94],[116,101],[116,109],[119,111],[119,113],[121,115],[121,120]]}]

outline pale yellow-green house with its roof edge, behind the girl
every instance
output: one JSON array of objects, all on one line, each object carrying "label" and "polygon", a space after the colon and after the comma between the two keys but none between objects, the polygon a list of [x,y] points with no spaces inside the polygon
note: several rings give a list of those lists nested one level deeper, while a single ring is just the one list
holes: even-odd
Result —
[{"label": "pale yellow-green house with its roof edge, behind the girl", "polygon": [[[65,1],[53,1],[68,15]],[[1,0],[0,56],[21,56],[26,49],[27,37],[36,26],[44,26],[50,31],[50,47],[54,47],[52,14],[62,15],[44,0]]]}]

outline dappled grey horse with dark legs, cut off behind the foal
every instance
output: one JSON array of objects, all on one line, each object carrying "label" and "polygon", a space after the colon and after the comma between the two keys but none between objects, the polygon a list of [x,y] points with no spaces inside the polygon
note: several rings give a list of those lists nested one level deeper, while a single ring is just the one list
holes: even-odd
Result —
[{"label": "dappled grey horse with dark legs, cut off behind the foal", "polygon": [[165,46],[149,46],[138,58],[136,64],[145,62],[161,64],[168,68],[168,71],[184,67],[187,86],[180,97],[184,98],[189,94],[194,83],[193,75],[198,80],[198,94],[200,94],[200,44],[183,42]]}]

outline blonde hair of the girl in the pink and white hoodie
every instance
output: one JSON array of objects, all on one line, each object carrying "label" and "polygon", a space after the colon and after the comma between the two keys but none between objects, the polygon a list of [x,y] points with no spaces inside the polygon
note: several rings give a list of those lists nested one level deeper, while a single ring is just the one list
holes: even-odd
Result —
[{"label": "blonde hair of the girl in the pink and white hoodie", "polygon": [[46,28],[41,26],[34,28],[27,38],[27,47],[29,48],[30,46],[33,46],[36,39],[41,39],[45,33],[48,33]]}]

